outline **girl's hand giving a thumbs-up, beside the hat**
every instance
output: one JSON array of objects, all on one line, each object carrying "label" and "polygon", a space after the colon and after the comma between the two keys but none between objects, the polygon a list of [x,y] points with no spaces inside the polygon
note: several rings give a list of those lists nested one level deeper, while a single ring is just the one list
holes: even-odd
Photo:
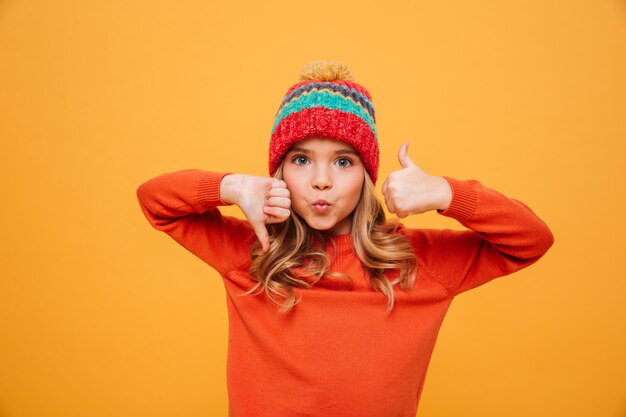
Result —
[{"label": "girl's hand giving a thumbs-up, beside the hat", "polygon": [[383,183],[382,192],[390,213],[398,217],[429,210],[445,210],[452,201],[452,189],[443,177],[428,175],[409,158],[405,142],[398,151],[402,169],[394,171]]}]

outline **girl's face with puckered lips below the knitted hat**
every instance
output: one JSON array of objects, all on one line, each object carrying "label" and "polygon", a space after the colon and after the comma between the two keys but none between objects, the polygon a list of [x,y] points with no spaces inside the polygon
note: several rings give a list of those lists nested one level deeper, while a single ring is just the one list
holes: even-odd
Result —
[{"label": "girl's face with puckered lips below the knitted hat", "polygon": [[350,233],[365,175],[359,154],[334,139],[303,139],[283,160],[291,208],[312,228],[333,235]]}]

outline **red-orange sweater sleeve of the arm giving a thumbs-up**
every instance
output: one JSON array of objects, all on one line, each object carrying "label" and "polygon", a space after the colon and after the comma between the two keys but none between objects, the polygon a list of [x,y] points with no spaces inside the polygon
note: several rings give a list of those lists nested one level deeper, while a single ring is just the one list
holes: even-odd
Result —
[{"label": "red-orange sweater sleeve of the arm giving a thumbs-up", "polygon": [[530,266],[554,243],[546,223],[524,203],[476,180],[444,178],[452,201],[437,212],[469,230],[428,230],[422,256],[427,273],[451,295]]}]

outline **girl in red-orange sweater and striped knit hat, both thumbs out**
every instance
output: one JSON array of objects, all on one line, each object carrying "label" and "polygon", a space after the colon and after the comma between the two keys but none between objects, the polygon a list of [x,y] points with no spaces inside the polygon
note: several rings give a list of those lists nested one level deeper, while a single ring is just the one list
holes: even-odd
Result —
[{"label": "girl in red-orange sweater and striped knit hat, both thumbs out", "polygon": [[[553,236],[518,200],[425,173],[406,143],[382,185],[389,212],[437,210],[469,230],[388,222],[370,94],[339,63],[300,78],[276,114],[269,177],[170,172],[139,203],[223,278],[230,416],[413,417],[452,299],[533,264]],[[220,213],[230,204],[246,220]]]}]

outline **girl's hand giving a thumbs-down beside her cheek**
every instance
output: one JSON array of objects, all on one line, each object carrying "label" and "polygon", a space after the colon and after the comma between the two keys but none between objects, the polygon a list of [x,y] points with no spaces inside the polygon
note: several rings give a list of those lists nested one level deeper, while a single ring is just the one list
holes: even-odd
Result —
[{"label": "girl's hand giving a thumbs-down beside her cheek", "polygon": [[270,247],[265,225],[284,222],[291,214],[287,184],[277,178],[228,174],[222,178],[220,198],[239,206],[261,242],[264,253]]}]

